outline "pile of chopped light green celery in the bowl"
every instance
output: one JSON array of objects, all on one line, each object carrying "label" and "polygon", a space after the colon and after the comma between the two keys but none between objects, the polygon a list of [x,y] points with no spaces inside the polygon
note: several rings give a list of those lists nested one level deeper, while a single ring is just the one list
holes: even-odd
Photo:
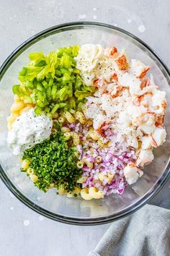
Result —
[{"label": "pile of chopped light green celery in the bowl", "polygon": [[35,113],[45,111],[51,115],[57,111],[74,111],[92,95],[94,87],[86,86],[76,69],[75,56],[79,46],[58,48],[45,56],[42,52],[29,55],[30,64],[19,72],[20,85],[14,85],[14,94],[24,102],[35,103]]}]

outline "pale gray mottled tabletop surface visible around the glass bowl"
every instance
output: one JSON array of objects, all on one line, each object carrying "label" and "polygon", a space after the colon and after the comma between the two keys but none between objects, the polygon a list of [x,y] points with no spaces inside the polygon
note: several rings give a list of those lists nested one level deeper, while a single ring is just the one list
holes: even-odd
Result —
[{"label": "pale gray mottled tabletop surface visible around the glass bowl", "polygon": [[[169,0],[0,0],[0,64],[35,33],[63,22],[92,20],[125,28],[150,45],[170,67]],[[170,208],[170,181],[151,203]],[[33,212],[0,182],[1,256],[85,256],[106,231],[70,226]]]}]

